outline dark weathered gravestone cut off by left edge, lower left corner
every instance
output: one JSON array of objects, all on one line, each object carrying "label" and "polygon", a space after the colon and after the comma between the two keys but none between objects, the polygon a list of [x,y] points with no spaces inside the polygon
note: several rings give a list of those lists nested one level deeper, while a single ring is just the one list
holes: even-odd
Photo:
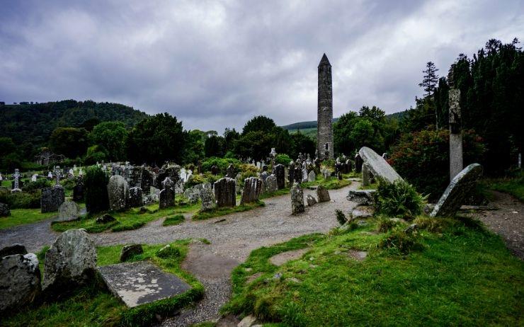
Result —
[{"label": "dark weathered gravestone cut off by left edge, lower left corner", "polygon": [[40,293],[40,268],[33,253],[0,258],[0,314],[20,309]]}]

